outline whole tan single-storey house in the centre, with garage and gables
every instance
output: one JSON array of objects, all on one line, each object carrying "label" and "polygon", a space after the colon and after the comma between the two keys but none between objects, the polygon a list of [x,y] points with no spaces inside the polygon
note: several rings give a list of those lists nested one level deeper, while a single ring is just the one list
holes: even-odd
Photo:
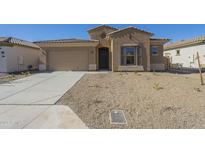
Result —
[{"label": "whole tan single-storey house in the centre, with garage and gables", "polygon": [[135,27],[102,25],[88,30],[90,40],[34,42],[47,54],[49,70],[150,71],[164,70],[163,45],[168,39]]}]

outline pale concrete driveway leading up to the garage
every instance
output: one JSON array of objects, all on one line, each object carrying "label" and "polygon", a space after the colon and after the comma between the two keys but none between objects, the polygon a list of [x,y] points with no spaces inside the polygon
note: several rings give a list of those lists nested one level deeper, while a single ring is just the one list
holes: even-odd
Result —
[{"label": "pale concrete driveway leading up to the garage", "polygon": [[55,105],[84,74],[39,73],[0,84],[0,128],[87,128],[68,106]]}]

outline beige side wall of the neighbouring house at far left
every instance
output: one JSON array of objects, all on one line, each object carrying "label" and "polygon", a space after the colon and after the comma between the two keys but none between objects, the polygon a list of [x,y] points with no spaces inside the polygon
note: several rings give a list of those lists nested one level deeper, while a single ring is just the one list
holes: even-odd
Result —
[{"label": "beige side wall of the neighbouring house at far left", "polygon": [[[40,49],[24,46],[4,47],[7,60],[7,72],[28,70],[28,65],[38,69]],[[23,64],[18,64],[19,57],[23,57]]]}]

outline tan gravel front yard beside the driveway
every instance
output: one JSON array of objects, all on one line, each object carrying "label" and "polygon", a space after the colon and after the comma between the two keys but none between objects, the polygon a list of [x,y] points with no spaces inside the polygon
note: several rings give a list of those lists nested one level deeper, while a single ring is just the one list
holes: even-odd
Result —
[{"label": "tan gravel front yard beside the driveway", "polygon": [[[89,128],[205,128],[198,74],[87,74],[58,104],[70,106]],[[110,124],[114,109],[124,111],[127,124]]]}]

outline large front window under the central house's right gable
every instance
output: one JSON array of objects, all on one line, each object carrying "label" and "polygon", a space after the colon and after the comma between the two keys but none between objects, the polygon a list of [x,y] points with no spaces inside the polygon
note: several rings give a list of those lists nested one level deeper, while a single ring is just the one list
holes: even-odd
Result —
[{"label": "large front window under the central house's right gable", "polygon": [[129,46],[122,47],[121,51],[121,65],[136,65],[137,47]]}]

